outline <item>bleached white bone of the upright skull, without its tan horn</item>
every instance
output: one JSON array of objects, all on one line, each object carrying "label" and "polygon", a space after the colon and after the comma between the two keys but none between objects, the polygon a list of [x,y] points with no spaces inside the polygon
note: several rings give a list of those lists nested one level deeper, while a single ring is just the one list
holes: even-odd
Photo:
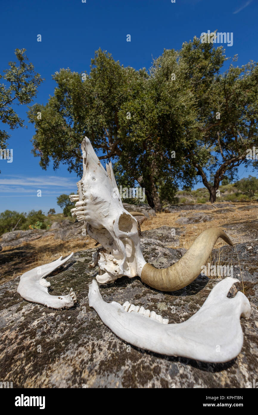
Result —
[{"label": "bleached white bone of the upright skull, without its tan horn", "polygon": [[99,265],[100,283],[122,276],[140,275],[146,264],[140,249],[140,226],[122,204],[111,163],[101,165],[87,137],[82,142],[83,175],[77,183],[78,194],[72,216],[84,221],[90,237],[102,245],[93,257]]}]

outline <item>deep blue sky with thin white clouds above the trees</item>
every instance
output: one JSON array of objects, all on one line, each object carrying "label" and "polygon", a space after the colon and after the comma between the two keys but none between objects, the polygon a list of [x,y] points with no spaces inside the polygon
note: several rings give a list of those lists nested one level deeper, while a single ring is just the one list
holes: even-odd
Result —
[{"label": "deep blue sky with thin white clouds above the trees", "polygon": [[[1,15],[0,72],[14,60],[14,49],[27,49],[35,71],[45,78],[34,102],[44,104],[55,88],[51,75],[68,67],[89,72],[90,60],[99,47],[124,66],[149,68],[152,58],[161,55],[164,48],[180,49],[183,41],[217,29],[234,34],[233,45],[225,45],[227,56],[238,54],[239,65],[257,61],[257,0],[14,0],[2,2]],[[41,42],[37,42],[37,34],[41,34]],[[57,171],[52,165],[47,171],[41,169],[39,158],[31,154],[34,127],[27,121],[27,106],[14,108],[28,128],[11,132],[7,148],[13,149],[12,163],[0,160],[0,212],[48,212],[51,207],[60,212],[56,197],[76,193],[77,176],[68,173],[65,166]],[[3,128],[8,130],[0,123]],[[248,174],[256,175],[251,168],[239,169],[240,178]],[[41,197],[36,196],[38,189]]]}]

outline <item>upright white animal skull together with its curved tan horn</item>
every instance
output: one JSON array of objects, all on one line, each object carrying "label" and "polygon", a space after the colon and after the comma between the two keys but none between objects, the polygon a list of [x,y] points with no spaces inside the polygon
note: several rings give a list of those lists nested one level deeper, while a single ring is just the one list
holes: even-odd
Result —
[{"label": "upright white animal skull together with its curved tan horn", "polygon": [[233,246],[229,237],[217,228],[204,231],[187,253],[174,265],[156,269],[147,264],[140,248],[140,227],[122,204],[111,163],[101,165],[87,137],[82,142],[83,176],[77,183],[78,194],[72,215],[84,220],[90,237],[102,249],[93,256],[92,267],[98,264],[99,283],[117,278],[140,276],[149,286],[162,291],[176,291],[190,284],[206,264],[215,242],[220,237]]}]

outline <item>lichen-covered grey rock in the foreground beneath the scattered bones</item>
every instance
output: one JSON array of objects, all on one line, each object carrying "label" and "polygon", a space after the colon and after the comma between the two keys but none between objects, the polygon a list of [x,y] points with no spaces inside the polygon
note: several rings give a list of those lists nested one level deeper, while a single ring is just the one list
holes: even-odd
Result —
[{"label": "lichen-covered grey rock in the foreground beneath the scattered bones", "polygon": [[[185,251],[167,246],[169,231],[164,227],[156,234],[145,231],[149,234],[141,240],[145,259],[156,267],[173,264]],[[257,378],[258,242],[239,244],[236,249],[252,307],[250,320],[241,319],[244,346],[236,359],[208,364],[162,356],[116,337],[88,304],[88,286],[96,274],[89,269],[95,249],[88,249],[47,277],[51,294],[67,294],[70,287],[75,290],[78,302],[73,308],[53,310],[23,300],[17,293],[19,277],[1,286],[1,380],[12,381],[14,388],[245,388]],[[233,248],[223,247],[223,260],[232,260],[234,276],[241,281]],[[100,291],[105,301],[129,301],[156,311],[170,323],[180,323],[199,310],[218,281],[199,276],[180,291],[164,293],[140,278],[123,277],[100,286]],[[242,283],[236,286],[241,289]]]}]

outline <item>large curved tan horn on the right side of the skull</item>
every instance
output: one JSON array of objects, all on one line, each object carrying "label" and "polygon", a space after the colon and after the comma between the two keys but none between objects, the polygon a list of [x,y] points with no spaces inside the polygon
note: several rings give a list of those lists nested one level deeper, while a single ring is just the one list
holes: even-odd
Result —
[{"label": "large curved tan horn on the right side of the skull", "polygon": [[142,282],[160,291],[177,291],[187,286],[200,274],[201,266],[207,263],[218,238],[222,238],[233,247],[233,243],[222,229],[206,229],[176,264],[164,269],[145,264],[141,273]]}]

